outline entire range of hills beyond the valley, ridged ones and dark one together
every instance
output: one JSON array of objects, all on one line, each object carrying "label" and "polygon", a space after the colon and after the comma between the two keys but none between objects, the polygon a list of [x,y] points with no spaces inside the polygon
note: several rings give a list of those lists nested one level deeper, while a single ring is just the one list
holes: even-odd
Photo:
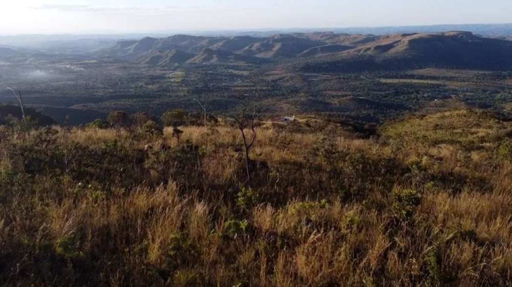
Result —
[{"label": "entire range of hills beyond the valley, ridged ones and dark one together", "polygon": [[423,66],[512,68],[512,42],[471,32],[386,36],[317,32],[229,38],[175,35],[119,41],[100,55],[157,66],[274,62],[315,71]]}]

